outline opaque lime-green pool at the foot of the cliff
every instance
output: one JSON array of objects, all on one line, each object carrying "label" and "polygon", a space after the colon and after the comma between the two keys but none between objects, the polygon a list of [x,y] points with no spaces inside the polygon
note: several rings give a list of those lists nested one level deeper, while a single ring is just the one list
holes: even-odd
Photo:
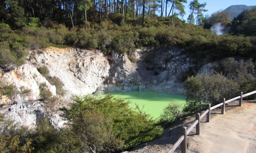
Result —
[{"label": "opaque lime-green pool at the foot of the cliff", "polygon": [[135,104],[138,104],[140,108],[144,106],[143,110],[150,114],[153,118],[159,117],[163,108],[166,107],[171,101],[180,103],[182,105],[184,105],[186,102],[186,96],[183,95],[173,95],[151,91],[116,92],[111,94],[121,97],[122,99],[130,100],[130,107],[135,108]]}]

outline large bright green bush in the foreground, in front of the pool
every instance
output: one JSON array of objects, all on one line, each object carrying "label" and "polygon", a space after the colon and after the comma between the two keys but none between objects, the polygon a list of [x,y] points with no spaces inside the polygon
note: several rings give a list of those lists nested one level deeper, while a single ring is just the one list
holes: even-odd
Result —
[{"label": "large bright green bush in the foreground, in front of the pool", "polygon": [[152,140],[162,133],[163,129],[156,126],[149,115],[142,110],[132,110],[129,102],[122,99],[108,95],[101,99],[75,97],[74,101],[77,103],[70,110],[64,109],[65,116],[73,121],[72,130],[85,151],[119,151]]}]

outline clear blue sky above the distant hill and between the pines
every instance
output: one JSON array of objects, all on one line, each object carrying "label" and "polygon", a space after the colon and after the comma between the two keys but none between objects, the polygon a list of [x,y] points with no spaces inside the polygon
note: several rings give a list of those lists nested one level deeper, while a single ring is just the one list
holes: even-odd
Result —
[{"label": "clear blue sky above the distant hill and between the pines", "polygon": [[[183,19],[186,21],[190,11],[188,5],[193,0],[187,0],[187,1],[188,3],[184,4],[186,15],[183,17]],[[203,14],[209,14],[209,15],[211,15],[212,13],[218,10],[221,10],[221,9],[224,10],[231,5],[247,5],[247,6],[256,5],[256,0],[198,0],[198,1],[200,3],[206,2],[205,9],[208,9],[208,12],[205,12]]]}]

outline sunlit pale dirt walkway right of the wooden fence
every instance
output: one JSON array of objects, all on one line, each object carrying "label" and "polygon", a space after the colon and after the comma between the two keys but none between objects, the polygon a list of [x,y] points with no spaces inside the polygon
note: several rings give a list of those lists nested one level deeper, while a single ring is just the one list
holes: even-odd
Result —
[{"label": "sunlit pale dirt walkway right of the wooden fence", "polygon": [[224,115],[201,123],[200,135],[188,136],[188,151],[200,153],[255,153],[256,103],[243,103]]}]

